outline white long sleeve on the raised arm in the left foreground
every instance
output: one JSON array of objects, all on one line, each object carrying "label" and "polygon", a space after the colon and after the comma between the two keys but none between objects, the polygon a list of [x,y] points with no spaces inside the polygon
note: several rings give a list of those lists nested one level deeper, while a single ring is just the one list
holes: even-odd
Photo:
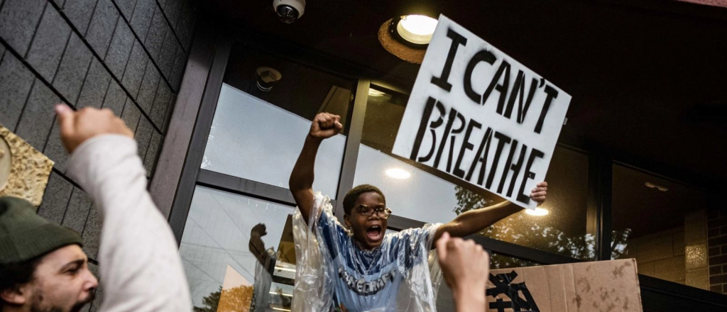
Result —
[{"label": "white long sleeve on the raised arm in the left foreground", "polygon": [[88,139],[71,155],[67,173],[103,218],[101,311],[192,311],[177,242],[146,190],[136,142],[119,135]]}]

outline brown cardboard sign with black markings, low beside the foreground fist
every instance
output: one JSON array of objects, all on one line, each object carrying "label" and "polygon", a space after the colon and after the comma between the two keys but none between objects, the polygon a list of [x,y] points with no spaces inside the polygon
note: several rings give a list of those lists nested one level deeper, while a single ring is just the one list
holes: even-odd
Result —
[{"label": "brown cardboard sign with black markings, low beside the foreground fist", "polygon": [[[515,279],[509,284],[496,281],[506,278],[502,274],[515,271]],[[636,273],[636,260],[610,260],[584,263],[570,263],[556,266],[530,266],[526,268],[502,268],[491,270],[490,282],[487,283],[487,306],[489,312],[515,311],[513,308],[498,310],[499,305],[510,305],[507,295],[497,292],[517,291],[521,303],[527,305],[534,301],[540,312],[575,312],[575,311],[608,311],[608,312],[642,312],[641,293]],[[501,274],[498,276],[498,274]],[[525,283],[527,290],[518,291],[519,283]],[[528,300],[528,294],[531,300]],[[534,311],[523,306],[520,311]]]}]

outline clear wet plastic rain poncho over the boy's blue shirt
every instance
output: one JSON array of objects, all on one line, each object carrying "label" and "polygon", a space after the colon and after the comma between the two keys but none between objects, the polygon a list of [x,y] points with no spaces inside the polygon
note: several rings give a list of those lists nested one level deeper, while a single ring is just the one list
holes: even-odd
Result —
[{"label": "clear wet plastic rain poncho over the boy's blue shirt", "polygon": [[334,217],[329,197],[317,192],[310,216],[308,224],[300,210],[293,216],[292,311],[436,311],[441,273],[430,246],[438,224],[387,234],[369,251]]}]

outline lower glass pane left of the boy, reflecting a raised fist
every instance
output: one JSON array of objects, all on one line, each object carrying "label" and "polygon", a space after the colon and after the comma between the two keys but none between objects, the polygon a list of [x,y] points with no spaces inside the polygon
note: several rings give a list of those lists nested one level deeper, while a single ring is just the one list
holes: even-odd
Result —
[{"label": "lower glass pane left of the boy, reflecting a raised fist", "polygon": [[[290,309],[294,209],[197,186],[180,244],[193,305],[247,311]],[[227,307],[227,308],[222,308]]]}]

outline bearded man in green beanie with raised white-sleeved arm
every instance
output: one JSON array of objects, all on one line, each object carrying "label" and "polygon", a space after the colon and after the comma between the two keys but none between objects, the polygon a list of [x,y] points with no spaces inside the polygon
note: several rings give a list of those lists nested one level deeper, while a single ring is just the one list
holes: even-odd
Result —
[{"label": "bearded man in green beanie with raised white-sleeved arm", "polygon": [[[66,174],[103,218],[100,311],[192,311],[177,242],[146,190],[132,131],[111,110],[58,104],[56,112],[71,153]],[[82,243],[29,202],[0,198],[0,311],[81,311],[98,285]]]}]

